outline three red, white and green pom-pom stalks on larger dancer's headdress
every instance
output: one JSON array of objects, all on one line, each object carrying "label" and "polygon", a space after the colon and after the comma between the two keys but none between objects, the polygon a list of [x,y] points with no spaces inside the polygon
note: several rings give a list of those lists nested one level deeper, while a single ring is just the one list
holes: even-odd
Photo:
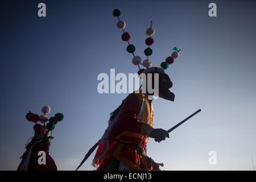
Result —
[{"label": "three red, white and green pom-pom stalks on larger dancer's headdress", "polygon": [[[147,59],[145,59],[142,63],[141,63],[141,57],[140,56],[135,56],[134,52],[135,52],[135,46],[133,44],[130,44],[129,40],[131,38],[129,32],[125,32],[125,27],[126,27],[126,23],[123,20],[119,19],[119,16],[121,15],[121,11],[119,11],[118,9],[115,9],[113,11],[113,15],[117,17],[118,22],[117,22],[117,27],[119,30],[123,31],[123,34],[121,36],[122,40],[128,43],[128,46],[126,47],[127,52],[132,53],[133,54],[133,60],[132,63],[134,65],[137,65],[139,68],[138,71],[138,75],[140,75],[142,72],[144,72],[145,69],[141,69],[139,67],[139,65],[143,65],[143,67],[145,68],[150,68],[152,66],[151,64],[151,60],[148,59],[148,56],[152,55],[152,49],[150,48],[150,46],[152,46],[152,44],[154,44],[154,39],[151,37],[152,35],[155,34],[155,29],[152,28],[152,20],[150,23],[150,28],[147,28],[146,30],[146,35],[148,36],[148,38],[145,40],[146,45],[148,46],[146,49],[144,49],[144,54],[147,56]],[[180,49],[178,49],[177,47],[174,47],[174,52],[172,52],[171,56],[168,56],[166,58],[166,61],[163,61],[160,64],[160,67],[163,69],[167,69],[169,67],[170,64],[174,63],[174,60],[177,59],[179,57],[179,52]]]}]

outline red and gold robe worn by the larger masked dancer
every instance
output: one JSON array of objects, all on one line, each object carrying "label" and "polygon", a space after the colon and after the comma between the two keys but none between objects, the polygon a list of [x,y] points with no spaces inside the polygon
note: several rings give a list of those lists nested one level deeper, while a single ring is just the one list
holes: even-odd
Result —
[{"label": "red and gold robe worn by the larger masked dancer", "polygon": [[104,149],[105,144],[101,143],[94,166],[100,166],[98,170],[107,170],[113,159],[116,159],[133,170],[152,170],[151,160],[136,150],[141,146],[146,152],[147,133],[154,125],[152,100],[148,100],[146,94],[132,93],[125,99],[119,112],[117,123],[109,135],[109,147],[105,148],[108,151],[101,159],[97,159]]}]

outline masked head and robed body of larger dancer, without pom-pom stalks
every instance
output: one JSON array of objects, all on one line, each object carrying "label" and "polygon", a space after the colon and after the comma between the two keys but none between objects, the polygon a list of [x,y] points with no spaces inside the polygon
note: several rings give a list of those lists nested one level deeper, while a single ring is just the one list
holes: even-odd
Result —
[{"label": "masked head and robed body of larger dancer, without pom-pom stalks", "polygon": [[[159,97],[174,101],[174,93],[170,92],[172,82],[162,68],[147,68],[146,74],[159,73]],[[146,84],[147,85],[147,84]],[[154,76],[152,76],[154,85]],[[153,86],[154,87],[154,86]],[[146,86],[147,88],[147,86]],[[145,89],[144,89],[145,90]],[[154,129],[154,110],[152,100],[155,93],[131,93],[110,116],[109,127],[105,131],[93,159],[93,166],[97,170],[160,170],[159,165],[146,154],[148,137],[156,142],[169,137],[166,130]]]}]

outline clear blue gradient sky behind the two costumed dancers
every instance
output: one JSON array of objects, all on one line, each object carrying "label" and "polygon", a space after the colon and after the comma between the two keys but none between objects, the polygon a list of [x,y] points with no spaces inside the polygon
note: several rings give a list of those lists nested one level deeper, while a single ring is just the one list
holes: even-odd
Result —
[{"label": "clear blue gradient sky behind the two costumed dancers", "polygon": [[[47,16],[38,17],[44,2]],[[217,4],[217,17],[208,5]],[[60,170],[75,170],[127,94],[99,94],[99,73],[135,73],[114,9],[130,42],[143,54],[153,20],[153,66],[181,48],[168,69],[175,102],[154,101],[155,128],[170,129],[202,109],[148,156],[164,170],[252,170],[256,163],[255,1],[1,1],[0,169],[15,170],[33,124],[25,115],[51,106],[64,121],[53,131],[50,155]],[[208,152],[217,152],[209,165]],[[94,169],[94,153],[80,168]]]}]

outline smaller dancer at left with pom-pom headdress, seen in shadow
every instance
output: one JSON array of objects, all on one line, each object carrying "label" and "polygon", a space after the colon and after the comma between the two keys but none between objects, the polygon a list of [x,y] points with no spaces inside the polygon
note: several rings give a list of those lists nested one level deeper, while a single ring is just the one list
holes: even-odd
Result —
[{"label": "smaller dancer at left with pom-pom headdress, seen in shadow", "polygon": [[[51,144],[52,131],[55,129],[57,122],[63,120],[64,115],[62,113],[55,114],[54,117],[48,119],[47,115],[51,111],[49,106],[42,108],[42,115],[27,113],[26,119],[34,122],[33,129],[35,130],[34,137],[31,137],[31,141],[26,145],[26,151],[20,157],[20,162],[17,171],[57,171],[57,166],[49,155],[49,146]],[[40,121],[43,125],[38,124]],[[49,121],[47,124],[46,122]],[[50,135],[51,133],[51,135]],[[45,154],[45,161],[39,162],[39,158]],[[44,156],[43,156],[44,157]],[[42,159],[44,160],[44,159]]]}]

